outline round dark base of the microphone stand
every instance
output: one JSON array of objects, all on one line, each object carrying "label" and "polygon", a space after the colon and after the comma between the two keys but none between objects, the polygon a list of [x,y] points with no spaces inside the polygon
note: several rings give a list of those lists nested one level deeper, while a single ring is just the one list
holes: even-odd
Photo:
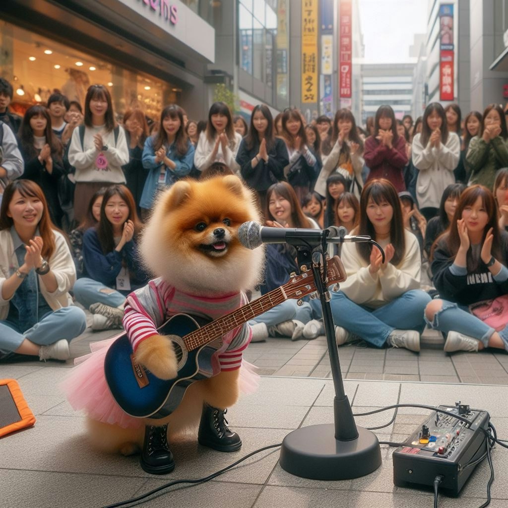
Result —
[{"label": "round dark base of the microphone stand", "polygon": [[280,466],[311,480],[348,480],[375,471],[381,465],[377,436],[357,427],[352,441],[335,439],[335,425],[310,425],[290,432],[280,449]]}]

